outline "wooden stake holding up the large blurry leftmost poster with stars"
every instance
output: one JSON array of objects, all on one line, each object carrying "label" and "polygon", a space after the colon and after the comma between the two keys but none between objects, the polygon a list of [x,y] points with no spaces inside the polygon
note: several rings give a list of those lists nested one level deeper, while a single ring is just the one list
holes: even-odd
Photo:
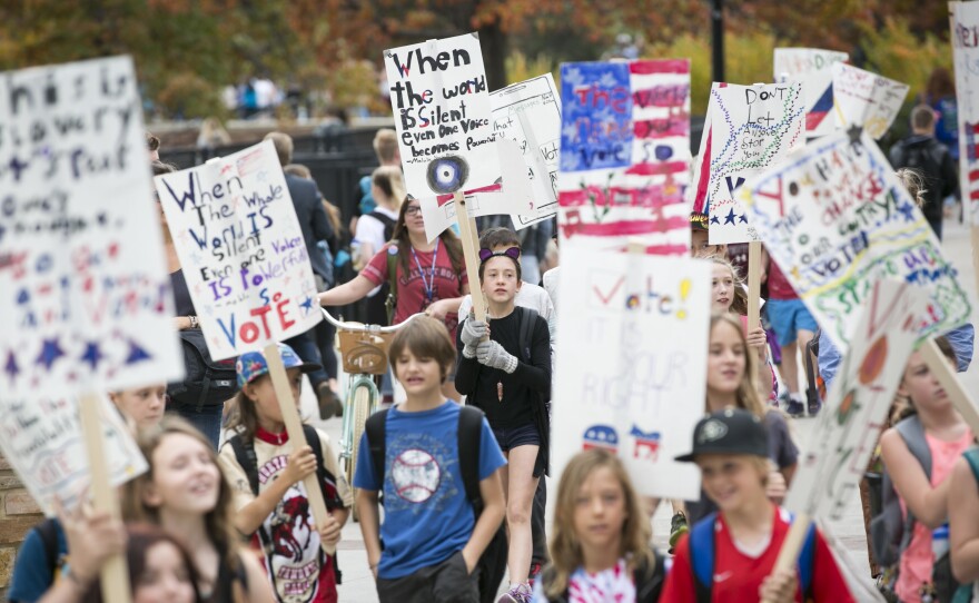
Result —
[{"label": "wooden stake holding up the large blurry leftmost poster with stars", "polygon": [[[85,452],[88,454],[91,472],[92,505],[96,511],[108,513],[115,520],[121,518],[119,497],[109,480],[109,467],[102,448],[105,434],[101,419],[102,401],[97,394],[87,394],[79,403],[79,419],[85,438]],[[129,566],[126,555],[112,555],[99,573],[102,585],[102,597],[107,603],[130,603]]]}]

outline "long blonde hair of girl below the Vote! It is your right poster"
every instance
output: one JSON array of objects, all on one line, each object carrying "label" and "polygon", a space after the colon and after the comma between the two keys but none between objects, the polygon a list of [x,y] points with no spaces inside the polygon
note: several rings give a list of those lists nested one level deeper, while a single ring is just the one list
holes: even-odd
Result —
[{"label": "long blonde hair of girl below the Vote! It is your right poster", "polygon": [[650,550],[652,527],[643,510],[632,481],[617,456],[607,451],[591,449],[574,455],[557,484],[557,505],[554,512],[554,533],[551,535],[551,571],[554,579],[545,582],[544,594],[554,600],[567,589],[568,579],[584,563],[581,541],[574,531],[574,513],[582,484],[600,468],[612,472],[622,487],[625,500],[625,522],[622,524],[622,541],[619,556],[625,557],[630,571],[640,565],[651,567],[653,553]]}]

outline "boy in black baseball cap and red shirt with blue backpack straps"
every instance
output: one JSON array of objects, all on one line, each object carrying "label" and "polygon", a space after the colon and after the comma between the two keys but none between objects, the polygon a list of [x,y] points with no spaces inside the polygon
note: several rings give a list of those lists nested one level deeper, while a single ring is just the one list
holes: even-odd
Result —
[{"label": "boy in black baseball cap and red shirt with blue backpack straps", "polygon": [[696,463],[720,511],[678,543],[662,601],[854,601],[814,525],[797,571],[773,573],[792,516],[765,494],[768,432],[760,418],[740,408],[704,417],[693,449],[676,459]]}]

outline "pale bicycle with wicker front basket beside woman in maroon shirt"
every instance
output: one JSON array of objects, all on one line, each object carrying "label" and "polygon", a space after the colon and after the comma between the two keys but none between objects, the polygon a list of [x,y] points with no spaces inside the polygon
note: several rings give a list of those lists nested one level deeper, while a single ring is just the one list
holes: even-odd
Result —
[{"label": "pale bicycle with wicker front basket beside woman in maroon shirt", "polygon": [[380,401],[380,391],[374,383],[374,376],[387,372],[387,348],[394,334],[423,314],[413,314],[397,325],[382,327],[344,323],[334,318],[326,308],[320,309],[324,318],[337,328],[344,372],[348,376],[339,457],[347,483],[353,485],[364,425],[367,417],[377,412]]}]

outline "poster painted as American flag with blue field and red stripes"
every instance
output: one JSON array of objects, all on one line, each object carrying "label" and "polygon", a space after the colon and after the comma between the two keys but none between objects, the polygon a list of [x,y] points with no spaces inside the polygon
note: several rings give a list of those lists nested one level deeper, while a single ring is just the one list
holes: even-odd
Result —
[{"label": "poster painted as American flag with blue field and red stripes", "polygon": [[689,255],[690,61],[561,66],[563,240]]}]

